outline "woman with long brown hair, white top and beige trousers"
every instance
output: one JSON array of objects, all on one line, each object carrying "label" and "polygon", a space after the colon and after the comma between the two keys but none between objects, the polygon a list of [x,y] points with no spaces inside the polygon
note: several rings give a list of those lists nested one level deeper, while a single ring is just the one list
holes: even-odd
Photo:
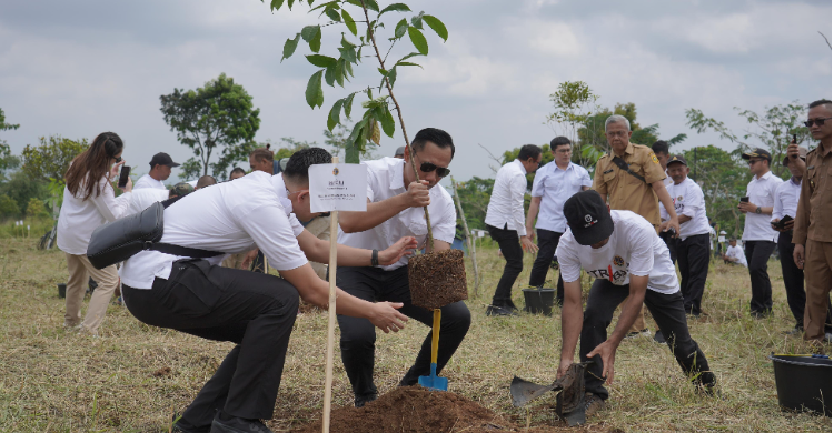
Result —
[{"label": "woman with long brown hair, white top and beige trousers", "polygon": [[[92,335],[98,334],[98,328],[105,320],[107,305],[119,284],[119,274],[116,265],[101,270],[93,268],[87,259],[87,245],[97,228],[129,213],[133,183],[128,179],[125,193],[118,199],[110,183],[125,164],[121,159],[123,148],[119,135],[103,132],[96,137],[89,149],[72,160],[64,175],[67,187],[58,219],[58,248],[67,254],[69,269],[63,325]],[[99,285],[90,298],[87,316],[81,322],[88,274]]]}]

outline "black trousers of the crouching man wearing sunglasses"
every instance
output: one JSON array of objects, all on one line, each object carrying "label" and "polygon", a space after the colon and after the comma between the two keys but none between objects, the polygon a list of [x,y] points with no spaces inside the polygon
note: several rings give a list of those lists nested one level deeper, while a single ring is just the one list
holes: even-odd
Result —
[{"label": "black trousers of the crouching man wearing sunglasses", "polygon": [[[379,268],[339,268],[336,284],[345,292],[369,302],[401,302],[400,313],[431,326],[434,313],[411,303],[408,286],[408,266],[395,271]],[[440,309],[440,343],[437,356],[438,373],[455,354],[469,332],[471,316],[464,302],[456,302]],[[367,319],[339,315],[341,331],[341,361],[357,400],[377,395],[374,384],[374,358],[376,350],[376,328]],[[400,381],[400,386],[417,384],[419,376],[427,376],[431,366],[431,332],[423,342],[417,360]]]}]

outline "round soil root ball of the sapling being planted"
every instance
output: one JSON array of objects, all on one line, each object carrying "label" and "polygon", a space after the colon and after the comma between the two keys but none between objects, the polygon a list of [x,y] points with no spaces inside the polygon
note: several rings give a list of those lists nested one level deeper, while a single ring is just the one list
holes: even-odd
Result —
[{"label": "round soil root ball of the sapling being planted", "polygon": [[411,303],[426,310],[469,299],[464,252],[449,250],[411,258],[408,283]]}]

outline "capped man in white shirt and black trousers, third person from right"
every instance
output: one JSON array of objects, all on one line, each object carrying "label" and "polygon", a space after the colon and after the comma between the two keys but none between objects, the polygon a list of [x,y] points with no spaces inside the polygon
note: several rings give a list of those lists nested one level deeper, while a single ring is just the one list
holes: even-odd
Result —
[{"label": "capped man in white shirt and black trousers, third person from right", "polygon": [[742,158],[747,160],[753,173],[753,180],[747,185],[747,197],[738,204],[738,210],[746,214],[742,240],[753,291],[749,313],[755,319],[764,319],[773,313],[773,288],[771,275],[767,274],[767,261],[776,249],[776,232],[771,226],[771,215],[782,179],[771,172],[771,152],[754,149]]}]

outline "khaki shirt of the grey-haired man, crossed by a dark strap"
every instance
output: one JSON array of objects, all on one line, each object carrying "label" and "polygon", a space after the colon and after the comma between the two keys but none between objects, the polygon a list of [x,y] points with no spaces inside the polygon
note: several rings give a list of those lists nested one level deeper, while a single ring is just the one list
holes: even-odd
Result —
[{"label": "khaki shirt of the grey-haired man, crossed by a dark strap", "polygon": [[666,179],[666,173],[655,152],[648,147],[628,143],[623,155],[633,172],[646,178],[645,182],[620,170],[613,159],[610,152],[597,161],[594,190],[608,195],[612,210],[632,211],[659,226],[659,199],[652,189],[652,183]]}]

